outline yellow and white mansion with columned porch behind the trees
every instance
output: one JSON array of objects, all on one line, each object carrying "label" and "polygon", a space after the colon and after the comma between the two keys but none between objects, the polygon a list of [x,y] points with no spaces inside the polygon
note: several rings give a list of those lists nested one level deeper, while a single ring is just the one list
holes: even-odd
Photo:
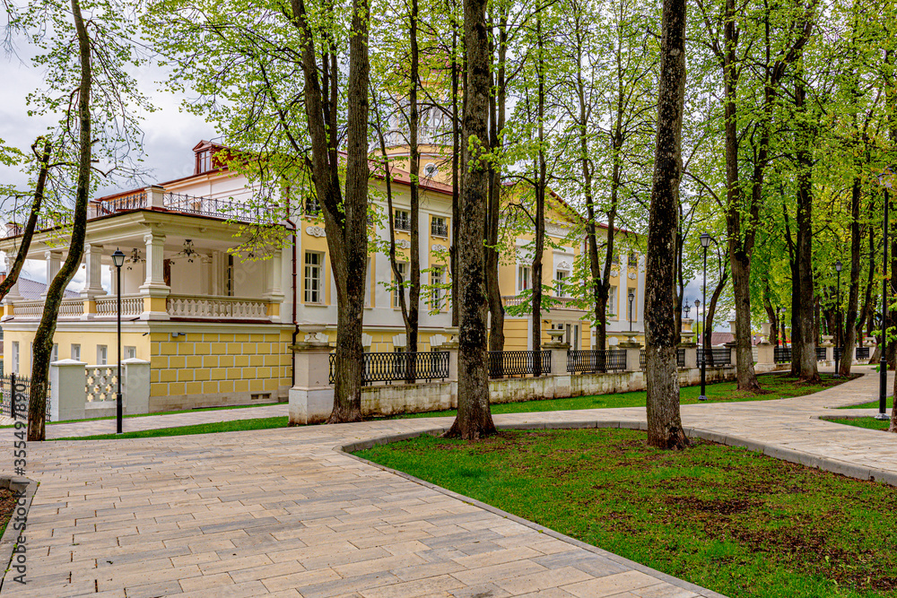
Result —
[{"label": "yellow and white mansion with columned porch behind the trees", "polygon": [[[123,359],[151,363],[150,411],[204,405],[285,400],[292,386],[292,351],[296,325],[327,325],[335,340],[336,292],[327,256],[327,231],[317,217],[317,206],[307,201],[302,214],[276,224],[287,230],[294,243],[275,250],[266,259],[234,254],[245,240],[234,221],[255,222],[266,218],[247,203],[251,193],[246,178],[230,172],[214,157],[220,148],[202,142],[194,148],[195,173],[187,178],[144,189],[109,195],[91,202],[83,258],[86,282],[78,297],[63,299],[54,338],[54,358],[106,365],[117,360],[115,267],[111,254],[120,248],[127,256],[122,268]],[[397,154],[398,152],[396,152]],[[401,156],[396,155],[396,166]],[[441,169],[441,170],[440,170]],[[448,283],[448,247],[451,238],[451,187],[436,155],[422,160],[421,262],[427,273],[424,284]],[[449,170],[450,171],[450,170]],[[371,178],[371,202],[383,215],[376,234],[388,238],[384,184]],[[410,247],[410,195],[406,172],[398,172],[394,188],[396,244]],[[553,200],[547,234],[555,243],[568,236],[574,224],[572,212]],[[28,254],[42,260],[50,280],[65,260],[65,223],[45,222],[35,234]],[[10,225],[0,240],[7,259],[14,256],[21,230]],[[521,236],[518,258],[502,260],[500,283],[506,304],[513,303],[529,280]],[[569,275],[583,243],[546,249],[544,283]],[[635,259],[635,257],[633,257]],[[505,263],[507,262],[507,263]],[[108,269],[111,287],[102,284]],[[620,266],[626,283],[614,282],[611,312],[625,306],[626,293],[635,291],[635,330],[641,330],[641,292],[644,275],[640,266]],[[405,270],[407,272],[407,270]],[[366,351],[395,351],[404,347],[405,327],[390,288],[388,256],[369,259],[368,297],[364,309],[363,342]],[[623,280],[621,278],[615,281]],[[420,351],[441,340],[451,324],[448,302],[430,290],[422,294]],[[544,313],[544,321],[569,330],[574,348],[591,344],[589,328],[580,318],[586,312],[561,299],[562,308]],[[441,306],[430,313],[432,306]],[[43,309],[42,299],[26,299],[13,287],[4,299],[5,369],[30,375],[30,344]],[[527,349],[529,318],[508,317],[507,350]],[[609,329],[622,333],[629,323],[614,316]],[[439,336],[437,336],[439,335]],[[434,340],[435,337],[435,340]],[[547,340],[547,333],[544,335]],[[622,336],[621,336],[622,338]],[[615,339],[614,339],[615,341]],[[614,342],[612,341],[612,342]]]}]

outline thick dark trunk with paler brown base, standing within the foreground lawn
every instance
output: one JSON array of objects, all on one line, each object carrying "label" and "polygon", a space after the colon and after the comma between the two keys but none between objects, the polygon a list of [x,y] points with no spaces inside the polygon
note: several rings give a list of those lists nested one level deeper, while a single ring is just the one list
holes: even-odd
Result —
[{"label": "thick dark trunk with paler brown base, standing within the foreground lawn", "polygon": [[675,325],[675,238],[682,176],[685,91],[685,0],[664,0],[660,51],[658,134],[648,230],[645,336],[648,363],[648,443],[683,448],[688,438],[679,414]]}]

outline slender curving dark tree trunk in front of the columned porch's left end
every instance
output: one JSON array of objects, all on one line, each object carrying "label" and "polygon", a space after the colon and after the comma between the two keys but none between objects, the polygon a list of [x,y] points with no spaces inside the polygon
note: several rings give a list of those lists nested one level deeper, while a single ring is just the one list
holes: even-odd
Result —
[{"label": "slender curving dark tree trunk in front of the columned porch's left end", "polygon": [[65,287],[72,282],[78,272],[84,254],[84,239],[87,237],[87,204],[91,192],[91,39],[84,26],[81,4],[71,0],[72,18],[78,39],[78,60],[81,67],[81,82],[78,87],[78,177],[74,195],[74,220],[72,239],[68,256],[59,267],[59,272],[48,282],[47,299],[40,324],[34,333],[31,352],[31,386],[28,406],[28,439],[46,438],[47,387],[50,355],[53,352],[53,335],[56,333],[59,306],[62,304]]}]

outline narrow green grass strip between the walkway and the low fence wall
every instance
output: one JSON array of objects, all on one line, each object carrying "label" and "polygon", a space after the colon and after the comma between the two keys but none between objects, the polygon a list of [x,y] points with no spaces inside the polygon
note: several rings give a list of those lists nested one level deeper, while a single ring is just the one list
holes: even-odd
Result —
[{"label": "narrow green grass strip between the walkway and the low fence wall", "polygon": [[[857,376],[854,376],[857,377]],[[818,385],[804,385],[797,382],[796,377],[788,374],[764,374],[758,377],[760,386],[765,394],[744,393],[737,390],[736,382],[718,382],[707,385],[707,398],[710,403],[736,402],[736,401],[770,401],[790,396],[803,396],[804,394],[818,393],[825,388],[837,386],[847,382],[848,378],[836,378],[829,374],[823,374],[823,381]],[[680,391],[681,404],[698,403],[701,395],[701,386],[684,386]],[[592,396],[577,396],[568,399],[549,399],[545,401],[527,401],[524,403],[496,403],[492,405],[492,413],[523,413],[523,412],[559,412],[571,409],[609,409],[613,407],[644,407],[646,403],[645,391],[633,393],[599,394]],[[450,409],[440,412],[404,413],[398,418],[422,418],[455,415],[455,410]]]}]

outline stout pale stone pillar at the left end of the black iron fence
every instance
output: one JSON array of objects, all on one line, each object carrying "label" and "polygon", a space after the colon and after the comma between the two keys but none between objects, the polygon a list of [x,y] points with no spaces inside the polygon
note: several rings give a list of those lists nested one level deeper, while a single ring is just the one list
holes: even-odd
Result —
[{"label": "stout pale stone pillar at the left end of the black iron fence", "polygon": [[315,334],[297,342],[296,385],[290,389],[290,425],[320,423],[334,408],[334,388],[330,386],[330,345]]}]

